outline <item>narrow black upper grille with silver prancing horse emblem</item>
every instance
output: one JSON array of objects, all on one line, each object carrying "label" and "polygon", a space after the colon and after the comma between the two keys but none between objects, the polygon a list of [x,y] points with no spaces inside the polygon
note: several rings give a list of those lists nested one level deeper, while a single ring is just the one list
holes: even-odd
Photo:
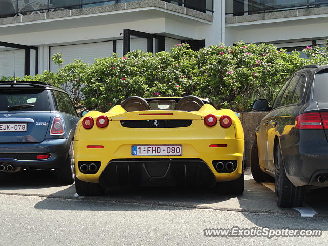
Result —
[{"label": "narrow black upper grille with silver prancing horse emblem", "polygon": [[129,128],[174,128],[189,127],[192,122],[189,119],[121,120],[121,125]]}]

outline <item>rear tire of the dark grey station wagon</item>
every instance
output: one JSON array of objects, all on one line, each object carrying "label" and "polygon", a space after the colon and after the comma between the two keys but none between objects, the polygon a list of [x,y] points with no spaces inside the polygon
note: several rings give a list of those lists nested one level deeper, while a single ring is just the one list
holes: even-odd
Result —
[{"label": "rear tire of the dark grey station wagon", "polygon": [[279,207],[302,207],[305,196],[305,188],[294,186],[288,179],[282,159],[280,145],[275,151],[275,193]]}]

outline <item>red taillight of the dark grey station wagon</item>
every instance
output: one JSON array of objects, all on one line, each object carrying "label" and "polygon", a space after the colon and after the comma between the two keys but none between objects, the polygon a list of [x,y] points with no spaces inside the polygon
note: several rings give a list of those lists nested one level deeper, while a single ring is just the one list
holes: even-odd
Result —
[{"label": "red taillight of the dark grey station wagon", "polygon": [[328,112],[299,114],[295,125],[298,129],[328,129]]}]

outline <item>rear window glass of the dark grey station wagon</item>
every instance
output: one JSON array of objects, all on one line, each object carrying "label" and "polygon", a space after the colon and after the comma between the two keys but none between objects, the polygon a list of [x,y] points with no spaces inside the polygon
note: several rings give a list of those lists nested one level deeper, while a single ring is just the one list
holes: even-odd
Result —
[{"label": "rear window glass of the dark grey station wagon", "polygon": [[313,87],[313,99],[318,103],[328,103],[328,73],[316,74]]}]

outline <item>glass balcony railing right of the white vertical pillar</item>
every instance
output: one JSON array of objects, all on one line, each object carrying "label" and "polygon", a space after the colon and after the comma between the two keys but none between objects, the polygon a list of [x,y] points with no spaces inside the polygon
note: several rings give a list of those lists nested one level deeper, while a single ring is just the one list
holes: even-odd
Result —
[{"label": "glass balcony railing right of the white vertical pillar", "polygon": [[328,0],[226,0],[227,15],[240,16],[267,12],[318,8],[328,6]]}]

